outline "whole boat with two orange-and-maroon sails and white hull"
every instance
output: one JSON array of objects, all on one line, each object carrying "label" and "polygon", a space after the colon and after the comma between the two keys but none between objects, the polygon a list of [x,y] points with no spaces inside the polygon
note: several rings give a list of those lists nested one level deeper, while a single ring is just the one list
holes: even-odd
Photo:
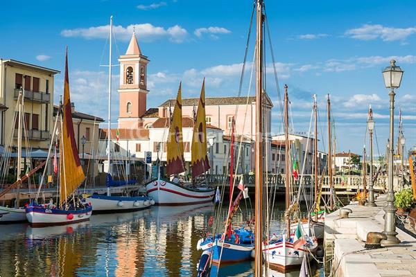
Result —
[{"label": "whole boat with two orange-and-maroon sails and white hull", "polygon": [[[182,97],[180,84],[177,91],[175,108],[171,118],[167,141],[167,175],[177,175],[185,171],[184,147],[182,141]],[[209,170],[207,157],[207,130],[205,125],[205,80],[202,83],[198,111],[193,127],[191,146],[192,177],[205,174]],[[177,182],[177,178],[170,181],[164,179],[158,165],[157,179],[146,184],[147,193],[157,205],[175,206],[211,202],[215,195],[214,188],[207,184],[184,186]]]}]

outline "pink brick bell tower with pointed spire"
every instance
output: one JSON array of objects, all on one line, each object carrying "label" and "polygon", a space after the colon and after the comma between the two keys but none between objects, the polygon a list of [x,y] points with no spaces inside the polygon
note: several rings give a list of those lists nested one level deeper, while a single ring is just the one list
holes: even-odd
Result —
[{"label": "pink brick bell tower with pointed spire", "polygon": [[119,57],[119,128],[142,127],[141,116],[146,112],[148,57],[141,53],[135,32],[125,55]]}]

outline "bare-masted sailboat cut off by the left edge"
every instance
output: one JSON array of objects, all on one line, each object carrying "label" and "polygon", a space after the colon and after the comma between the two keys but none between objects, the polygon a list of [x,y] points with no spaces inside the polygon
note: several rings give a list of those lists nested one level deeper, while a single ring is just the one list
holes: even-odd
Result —
[{"label": "bare-masted sailboat cut off by the left edge", "polygon": [[[39,166],[28,172],[27,174],[21,176],[21,141],[24,135],[26,136],[26,129],[23,127],[27,126],[27,123],[24,122],[26,119],[24,116],[24,89],[20,89],[19,91],[19,97],[17,98],[17,163],[16,163],[16,172],[17,172],[17,178],[16,181],[2,190],[0,192],[0,197],[3,197],[13,188],[17,188],[17,199],[15,200],[14,207],[4,207],[0,206],[0,224],[6,224],[6,223],[18,223],[18,222],[26,222],[26,211],[24,207],[21,207],[19,204],[19,188],[21,184],[23,184],[24,181],[28,180],[37,170],[40,170],[45,164],[46,161],[41,163]],[[12,129],[15,129],[15,125],[11,125]],[[22,131],[24,131],[22,134]],[[6,146],[6,150],[8,147]],[[28,148],[26,148],[26,152]],[[3,155],[8,156],[8,155]],[[5,157],[7,159],[7,157]],[[6,167],[6,164],[3,164],[4,167]]]}]

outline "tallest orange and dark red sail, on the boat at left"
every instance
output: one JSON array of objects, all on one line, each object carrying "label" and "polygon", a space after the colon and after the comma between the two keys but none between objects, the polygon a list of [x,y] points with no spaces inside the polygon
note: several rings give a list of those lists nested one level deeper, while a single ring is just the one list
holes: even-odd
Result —
[{"label": "tallest orange and dark red sail, on the boat at left", "polygon": [[60,139],[60,204],[64,203],[85,175],[78,157],[73,132],[71,99],[69,97],[68,52],[65,56],[64,103],[62,105],[62,132]]}]

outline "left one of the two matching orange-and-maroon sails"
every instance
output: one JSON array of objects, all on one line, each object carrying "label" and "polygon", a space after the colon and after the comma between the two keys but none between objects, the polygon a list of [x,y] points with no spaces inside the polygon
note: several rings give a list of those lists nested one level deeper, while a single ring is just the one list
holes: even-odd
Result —
[{"label": "left one of the two matching orange-and-maroon sails", "polygon": [[179,84],[177,91],[175,109],[169,127],[167,143],[167,161],[166,172],[168,175],[184,172],[184,143],[182,140],[182,83]]}]

